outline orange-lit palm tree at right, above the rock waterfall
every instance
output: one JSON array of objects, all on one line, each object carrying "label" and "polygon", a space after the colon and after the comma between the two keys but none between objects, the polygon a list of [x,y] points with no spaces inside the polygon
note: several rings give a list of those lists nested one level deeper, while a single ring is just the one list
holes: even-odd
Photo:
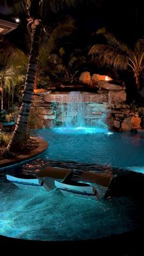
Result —
[{"label": "orange-lit palm tree at right, above the rock waterfall", "polygon": [[137,92],[140,90],[140,75],[144,70],[144,39],[135,42],[134,47],[122,43],[105,29],[99,30],[96,34],[103,34],[108,45],[93,45],[89,54],[97,54],[107,66],[119,70],[131,68],[134,73]]}]

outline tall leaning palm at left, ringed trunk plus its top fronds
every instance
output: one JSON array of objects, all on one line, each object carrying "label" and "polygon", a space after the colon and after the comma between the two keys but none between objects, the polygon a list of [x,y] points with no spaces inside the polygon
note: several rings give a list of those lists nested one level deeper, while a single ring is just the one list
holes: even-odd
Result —
[{"label": "tall leaning palm at left, ringed trunk plus its top fronds", "polygon": [[[80,0],[81,1],[81,0]],[[78,0],[0,0],[0,4],[7,2],[15,10],[24,9],[26,4],[28,24],[27,29],[31,33],[31,50],[29,54],[29,64],[27,66],[26,82],[24,86],[24,93],[22,98],[22,104],[20,108],[20,114],[18,116],[18,121],[15,126],[15,131],[13,132],[12,138],[7,146],[7,150],[13,151],[14,148],[20,147],[24,142],[24,131],[26,131],[27,120],[29,117],[29,111],[31,108],[32,94],[34,91],[34,82],[37,76],[38,60],[39,60],[39,50],[41,39],[43,38],[43,11],[51,8],[56,11],[60,9],[62,5],[74,5]]]}]

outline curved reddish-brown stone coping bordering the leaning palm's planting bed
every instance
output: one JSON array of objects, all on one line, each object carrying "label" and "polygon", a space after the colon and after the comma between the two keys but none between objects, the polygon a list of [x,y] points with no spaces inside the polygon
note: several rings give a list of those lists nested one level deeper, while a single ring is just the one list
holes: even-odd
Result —
[{"label": "curved reddish-brown stone coping bordering the leaning palm's planting bed", "polygon": [[10,166],[12,164],[20,163],[22,161],[34,158],[37,155],[45,152],[48,148],[48,142],[44,141],[41,137],[35,137],[36,142],[38,142],[38,147],[31,150],[27,155],[18,155],[13,159],[2,159],[0,160],[0,168]]}]

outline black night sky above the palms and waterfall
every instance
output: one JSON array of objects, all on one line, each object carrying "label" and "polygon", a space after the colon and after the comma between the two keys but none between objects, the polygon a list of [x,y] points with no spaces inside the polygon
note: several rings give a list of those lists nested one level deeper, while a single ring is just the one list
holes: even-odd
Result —
[{"label": "black night sky above the palms and waterfall", "polygon": [[[59,16],[71,15],[76,20],[77,34],[74,40],[79,46],[87,45],[93,40],[92,33],[99,27],[107,27],[116,37],[133,43],[144,35],[144,16],[142,1],[103,0],[101,4],[78,4],[76,8],[64,9],[59,13],[48,12],[49,21],[59,20]],[[6,7],[0,7],[0,13],[7,14]],[[76,38],[77,37],[77,38]],[[73,39],[72,39],[73,40]]]}]

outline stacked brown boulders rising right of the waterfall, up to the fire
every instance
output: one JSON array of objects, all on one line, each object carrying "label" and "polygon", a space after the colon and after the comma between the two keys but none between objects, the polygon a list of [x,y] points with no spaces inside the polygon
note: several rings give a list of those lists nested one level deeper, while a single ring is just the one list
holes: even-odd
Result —
[{"label": "stacked brown boulders rising right of the waterfall, up to the fire", "polygon": [[[82,78],[85,78],[83,72]],[[90,73],[88,73],[90,76]],[[95,86],[98,94],[108,95],[107,126],[109,130],[132,131],[140,128],[141,119],[139,113],[131,111],[130,106],[125,103],[126,92],[124,86],[118,86],[107,82],[106,76],[93,74],[89,85]],[[86,81],[83,81],[84,83]]]}]

